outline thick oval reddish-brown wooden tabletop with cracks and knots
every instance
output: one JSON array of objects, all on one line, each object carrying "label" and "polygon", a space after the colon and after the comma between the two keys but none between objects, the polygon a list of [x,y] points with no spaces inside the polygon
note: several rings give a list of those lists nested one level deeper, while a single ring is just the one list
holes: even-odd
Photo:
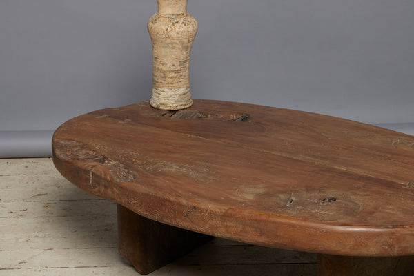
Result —
[{"label": "thick oval reddish-brown wooden tabletop with cracks and knots", "polygon": [[55,132],[86,192],[199,233],[332,255],[414,254],[414,137],[223,101],[98,110]]}]

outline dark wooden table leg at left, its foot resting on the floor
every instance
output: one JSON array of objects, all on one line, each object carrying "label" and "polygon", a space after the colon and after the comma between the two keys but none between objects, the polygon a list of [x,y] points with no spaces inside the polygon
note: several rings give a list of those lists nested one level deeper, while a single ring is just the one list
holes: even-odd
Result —
[{"label": "dark wooden table leg at left, its foot resting on the floor", "polygon": [[145,275],[205,244],[212,237],[161,224],[117,204],[119,253]]}]

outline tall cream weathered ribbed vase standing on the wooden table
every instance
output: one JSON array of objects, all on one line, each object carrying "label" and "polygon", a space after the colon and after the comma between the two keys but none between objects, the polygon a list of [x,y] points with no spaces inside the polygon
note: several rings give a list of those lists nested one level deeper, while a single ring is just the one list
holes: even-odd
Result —
[{"label": "tall cream weathered ribbed vase standing on the wooden table", "polygon": [[193,105],[190,52],[197,20],[186,12],[187,0],[157,0],[158,12],[148,21],[152,41],[151,106],[179,110]]}]

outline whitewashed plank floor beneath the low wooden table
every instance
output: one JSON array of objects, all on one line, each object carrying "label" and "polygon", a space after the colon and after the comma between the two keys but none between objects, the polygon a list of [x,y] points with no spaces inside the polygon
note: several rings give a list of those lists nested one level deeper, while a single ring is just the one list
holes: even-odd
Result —
[{"label": "whitewashed plank floor beneath the low wooden table", "polygon": [[[139,275],[117,252],[116,205],[52,159],[0,159],[0,276]],[[150,275],[316,275],[316,255],[213,239]]]}]

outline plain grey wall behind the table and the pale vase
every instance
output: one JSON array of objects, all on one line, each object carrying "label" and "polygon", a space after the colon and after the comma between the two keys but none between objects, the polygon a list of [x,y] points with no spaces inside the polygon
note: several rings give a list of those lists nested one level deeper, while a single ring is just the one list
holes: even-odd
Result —
[{"label": "plain grey wall behind the table and the pale vase", "polygon": [[[156,10],[155,0],[1,0],[0,132],[51,133],[149,99]],[[414,122],[412,0],[190,0],[188,11],[199,21],[195,99]]]}]

